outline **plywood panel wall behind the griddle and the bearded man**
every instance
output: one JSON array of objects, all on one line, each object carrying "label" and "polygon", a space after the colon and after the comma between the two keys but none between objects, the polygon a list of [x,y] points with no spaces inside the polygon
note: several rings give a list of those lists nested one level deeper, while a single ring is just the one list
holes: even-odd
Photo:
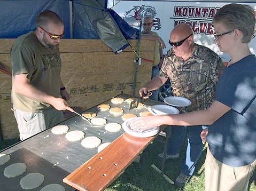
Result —
[{"label": "plywood panel wall behind the griddle and the bearded man", "polygon": [[[0,39],[0,62],[11,71],[10,49],[13,39]],[[137,41],[131,40],[136,50]],[[153,59],[153,43],[142,41],[141,56]],[[128,47],[114,54],[100,40],[64,39],[60,43],[61,78],[71,94],[71,107],[86,110],[121,92],[133,92],[136,54]],[[151,62],[142,62],[137,71],[137,89],[151,77]],[[11,110],[11,77],[0,71],[0,118],[4,139],[18,137],[17,124]]]}]

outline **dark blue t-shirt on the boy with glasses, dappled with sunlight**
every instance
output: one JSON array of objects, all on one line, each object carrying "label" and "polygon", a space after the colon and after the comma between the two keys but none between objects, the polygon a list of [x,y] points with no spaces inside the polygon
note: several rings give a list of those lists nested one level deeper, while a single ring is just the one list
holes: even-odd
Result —
[{"label": "dark blue t-shirt on the boy with glasses, dappled with sunlight", "polygon": [[256,159],[256,58],[249,55],[227,67],[216,88],[216,101],[231,108],[210,126],[207,141],[213,156],[230,166]]}]

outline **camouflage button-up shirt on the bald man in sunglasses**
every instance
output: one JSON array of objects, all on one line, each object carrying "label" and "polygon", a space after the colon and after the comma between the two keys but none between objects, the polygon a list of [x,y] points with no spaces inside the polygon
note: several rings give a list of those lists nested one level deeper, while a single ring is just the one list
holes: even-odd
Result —
[{"label": "camouflage button-up shirt on the bald man in sunglasses", "polygon": [[195,51],[187,60],[166,54],[158,76],[169,78],[174,96],[185,97],[192,104],[183,108],[185,112],[203,110],[215,100],[215,85],[223,69],[221,58],[205,46],[195,44]]}]

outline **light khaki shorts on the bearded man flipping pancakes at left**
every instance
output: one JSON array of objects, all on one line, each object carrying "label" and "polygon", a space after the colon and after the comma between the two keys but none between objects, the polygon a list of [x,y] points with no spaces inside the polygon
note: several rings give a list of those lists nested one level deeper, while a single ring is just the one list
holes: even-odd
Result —
[{"label": "light khaki shorts on the bearded man flipping pancakes at left", "polygon": [[14,108],[20,140],[27,139],[45,129],[63,121],[63,112],[53,108],[42,110],[38,113],[22,112]]}]

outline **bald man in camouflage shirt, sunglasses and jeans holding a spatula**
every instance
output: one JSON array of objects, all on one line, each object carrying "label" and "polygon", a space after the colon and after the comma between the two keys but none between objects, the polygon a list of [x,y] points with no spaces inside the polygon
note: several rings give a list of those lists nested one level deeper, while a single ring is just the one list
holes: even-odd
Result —
[{"label": "bald man in camouflage shirt, sunglasses and jeans holding a spatula", "polygon": [[[220,57],[207,47],[195,44],[193,31],[185,23],[181,23],[172,30],[169,43],[173,47],[167,52],[161,70],[139,90],[139,94],[143,95],[158,89],[169,78],[173,95],[188,98],[192,102],[190,106],[182,108],[183,112],[210,107],[215,100],[215,84],[223,68]],[[175,180],[176,186],[183,187],[195,171],[195,164],[203,149],[200,139],[201,129],[202,126],[197,126],[187,130],[187,152],[180,169],[181,173]],[[172,126],[167,159],[180,157],[179,151],[185,132],[185,127]],[[160,153],[159,157],[164,157],[164,154]]]}]

